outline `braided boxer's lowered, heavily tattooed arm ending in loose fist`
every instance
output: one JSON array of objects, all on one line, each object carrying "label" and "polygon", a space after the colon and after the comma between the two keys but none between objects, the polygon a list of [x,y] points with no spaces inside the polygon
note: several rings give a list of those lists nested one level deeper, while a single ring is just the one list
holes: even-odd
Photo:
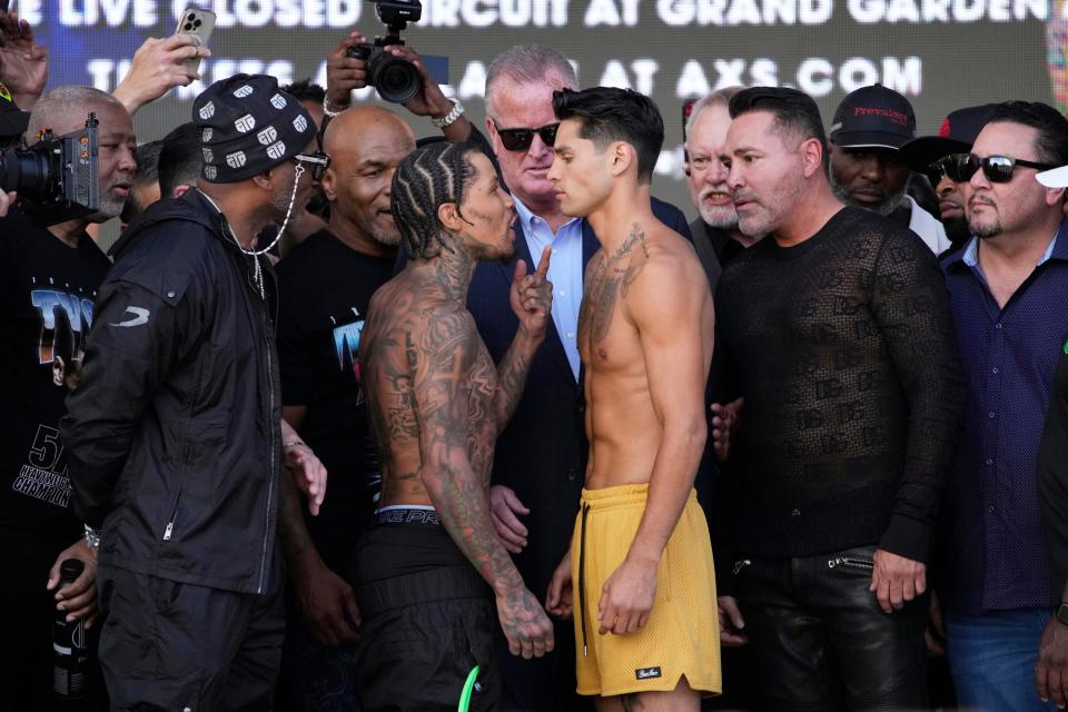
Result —
[{"label": "braided boxer's lowered, heavily tattooed arm ending in loose fist", "polygon": [[[422,334],[407,335],[415,374],[421,476],[449,536],[497,600],[501,627],[513,655],[541,657],[553,649],[553,626],[497,538],[486,483],[468,456],[468,439],[492,439],[493,428],[468,423],[468,402],[487,386],[475,375],[486,358],[471,315],[435,314]],[[484,372],[481,372],[484,373]],[[492,370],[490,372],[492,374]],[[492,447],[492,443],[476,444]]]}]

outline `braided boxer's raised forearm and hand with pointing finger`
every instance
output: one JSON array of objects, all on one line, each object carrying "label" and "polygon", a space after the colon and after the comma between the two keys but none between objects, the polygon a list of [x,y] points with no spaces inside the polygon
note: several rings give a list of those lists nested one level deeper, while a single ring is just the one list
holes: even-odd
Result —
[{"label": "braided boxer's raised forearm and hand with pointing finger", "polygon": [[497,416],[498,434],[515,414],[526,385],[526,375],[531,372],[531,362],[537,347],[545,340],[545,329],[553,308],[553,283],[546,279],[552,254],[552,246],[546,245],[542,250],[542,261],[533,275],[526,274],[526,263],[521,259],[516,263],[512,276],[508,301],[520,319],[520,328],[504,358],[497,364],[497,390],[493,409]]}]

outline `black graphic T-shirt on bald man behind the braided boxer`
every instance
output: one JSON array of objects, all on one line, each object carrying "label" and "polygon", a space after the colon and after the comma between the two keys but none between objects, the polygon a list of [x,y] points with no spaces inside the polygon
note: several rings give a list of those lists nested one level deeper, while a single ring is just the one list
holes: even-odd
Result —
[{"label": "black graphic T-shirt on bald man behind the braided boxer", "polygon": [[395,261],[358,253],[323,230],[278,264],[283,400],[307,406],[300,437],[329,472],[326,500],[308,530],[326,564],[343,574],[382,483],[357,356],[370,296],[393,276]]}]

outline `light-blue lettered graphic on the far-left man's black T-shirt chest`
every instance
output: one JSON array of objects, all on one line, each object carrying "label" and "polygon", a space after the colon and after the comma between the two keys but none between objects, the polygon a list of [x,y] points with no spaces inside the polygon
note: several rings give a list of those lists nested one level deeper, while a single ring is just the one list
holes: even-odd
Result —
[{"label": "light-blue lettered graphic on the far-left man's black T-shirt chest", "polygon": [[52,365],[52,383],[73,390],[81,379],[92,299],[55,287],[33,289],[30,301],[41,319],[39,363]]}]

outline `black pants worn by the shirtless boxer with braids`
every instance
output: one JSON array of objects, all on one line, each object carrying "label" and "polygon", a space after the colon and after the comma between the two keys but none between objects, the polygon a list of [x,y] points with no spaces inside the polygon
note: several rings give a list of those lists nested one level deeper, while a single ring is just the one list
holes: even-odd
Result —
[{"label": "black pants worn by the shirtless boxer with braids", "polygon": [[472,711],[496,710],[490,587],[441,525],[379,524],[357,546],[363,712],[455,712],[478,665]]}]

